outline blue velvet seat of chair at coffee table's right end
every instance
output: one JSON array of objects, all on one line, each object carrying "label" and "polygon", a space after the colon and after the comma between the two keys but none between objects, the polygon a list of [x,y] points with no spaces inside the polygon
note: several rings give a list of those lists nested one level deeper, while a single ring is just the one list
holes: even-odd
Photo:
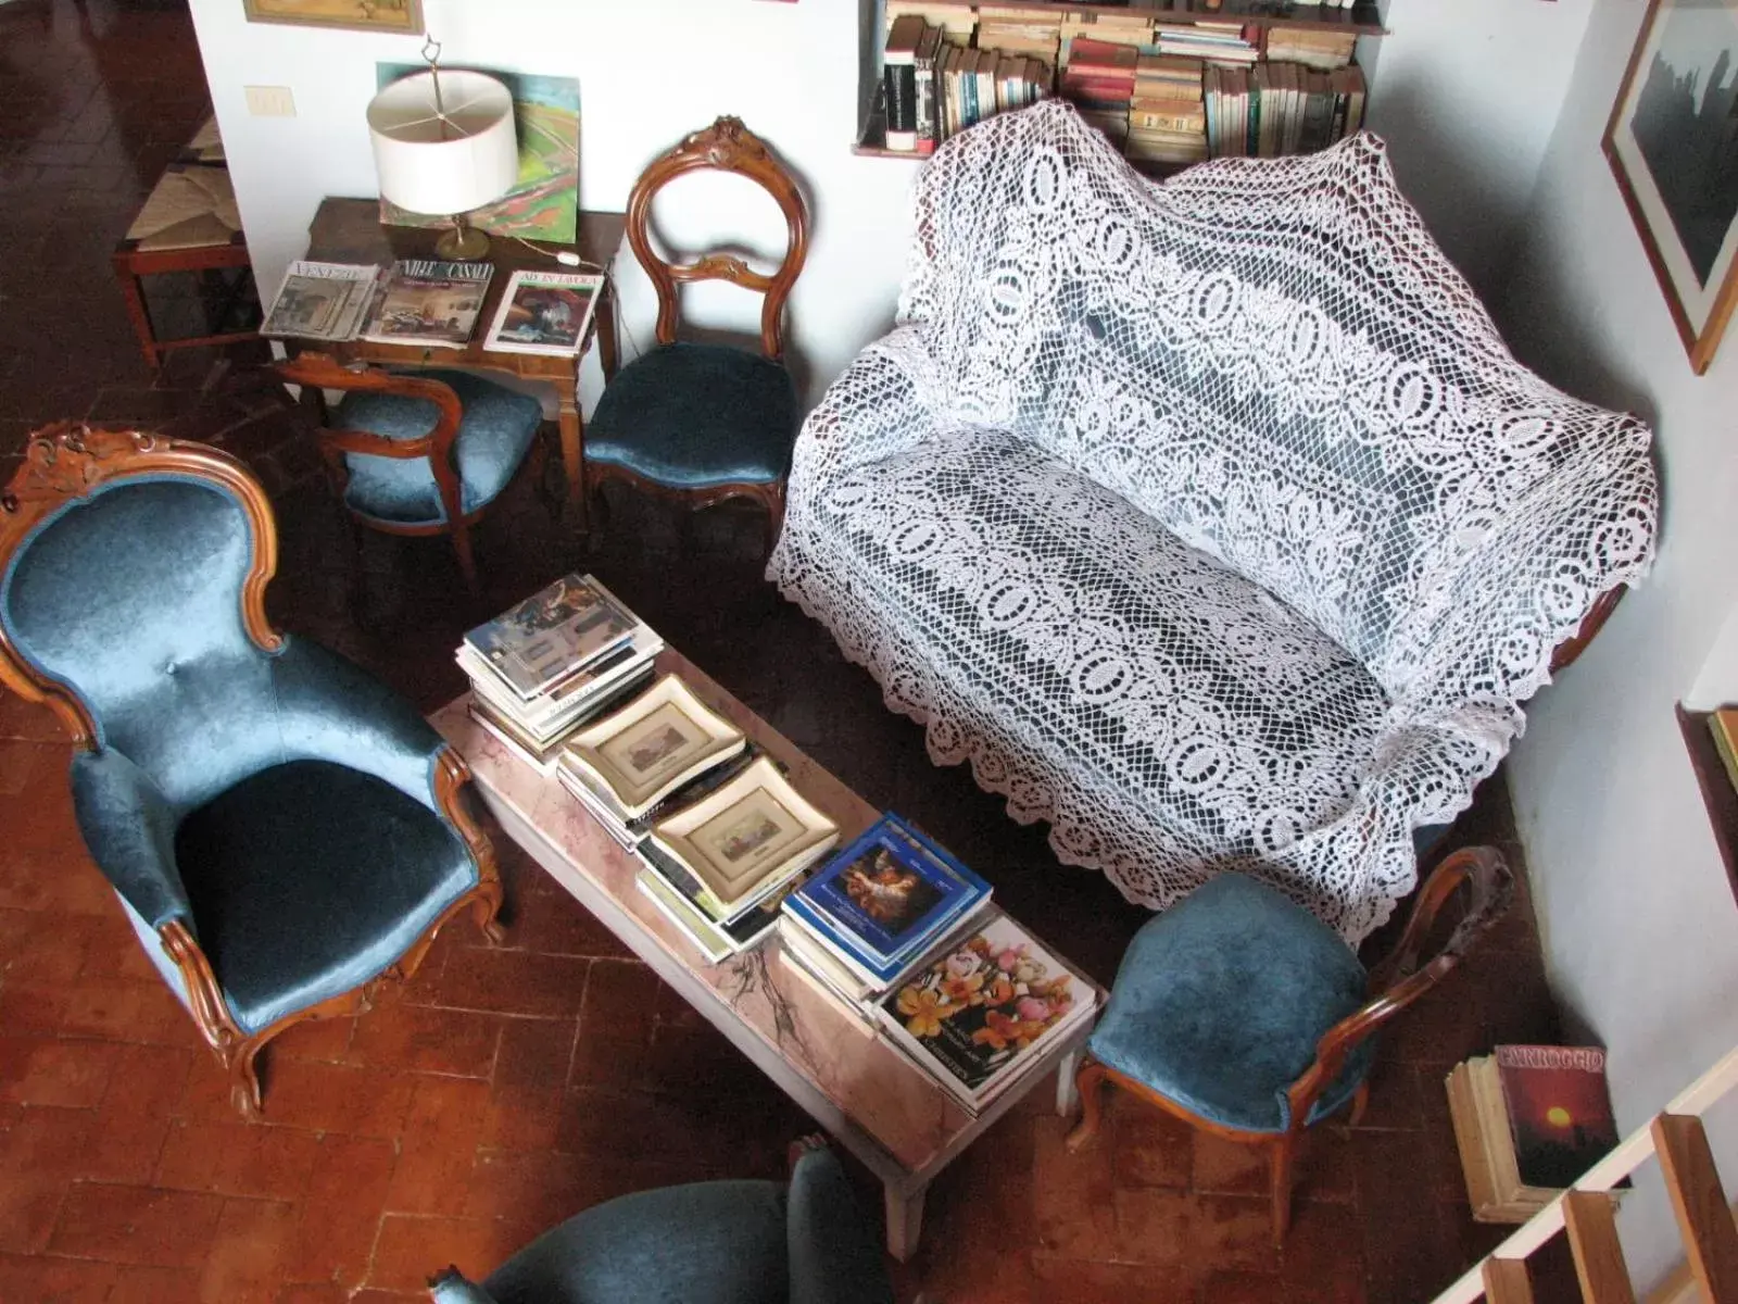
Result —
[{"label": "blue velvet seat of chair at coffee table's right end", "polygon": [[[1333,928],[1276,888],[1225,873],[1135,934],[1088,1048],[1210,1123],[1284,1132],[1286,1087],[1366,988]],[[1350,1101],[1373,1052],[1373,1041],[1359,1045],[1309,1121]]]}]

